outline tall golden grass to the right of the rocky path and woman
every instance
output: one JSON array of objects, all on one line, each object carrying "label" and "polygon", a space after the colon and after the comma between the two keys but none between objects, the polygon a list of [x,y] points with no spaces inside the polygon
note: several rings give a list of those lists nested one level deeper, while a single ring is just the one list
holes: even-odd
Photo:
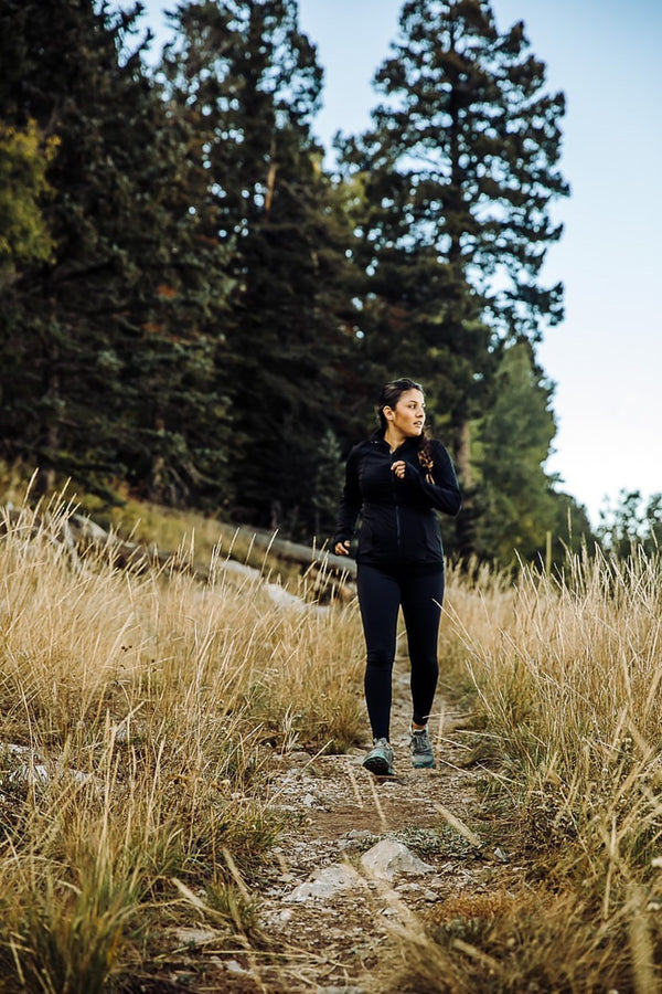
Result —
[{"label": "tall golden grass to the right of the rocky path and woman", "polygon": [[660,558],[456,573],[446,615],[485,808],[520,871],[491,903],[460,895],[409,930],[397,990],[660,990]]}]

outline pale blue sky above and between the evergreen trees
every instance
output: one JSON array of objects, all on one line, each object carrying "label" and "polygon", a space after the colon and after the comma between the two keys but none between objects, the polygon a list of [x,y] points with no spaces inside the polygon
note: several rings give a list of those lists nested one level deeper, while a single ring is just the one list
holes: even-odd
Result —
[{"label": "pale blue sky above and between the evergreen trees", "polygon": [[[173,3],[143,0],[162,31]],[[524,21],[531,51],[563,91],[560,169],[570,197],[543,269],[565,286],[565,319],[537,348],[555,384],[546,463],[594,525],[620,490],[662,491],[662,36],[660,0],[492,0],[500,31]],[[313,130],[330,149],[377,103],[372,77],[397,34],[402,0],[299,0],[324,67]],[[161,35],[162,36],[162,35]]]}]

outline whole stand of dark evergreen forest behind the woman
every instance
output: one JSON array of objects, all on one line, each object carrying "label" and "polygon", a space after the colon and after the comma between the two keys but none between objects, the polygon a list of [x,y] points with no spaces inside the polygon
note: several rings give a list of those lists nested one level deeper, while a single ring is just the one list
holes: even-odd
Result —
[{"label": "whole stand of dark evergreen forest behind the woman", "polygon": [[71,479],[321,544],[380,388],[408,376],[462,485],[449,552],[592,541],[545,470],[536,343],[563,287],[543,265],[569,186],[564,96],[525,25],[407,0],[372,125],[330,166],[296,0],[169,22],[154,60],[140,3],[0,0],[3,464],[38,494]]}]

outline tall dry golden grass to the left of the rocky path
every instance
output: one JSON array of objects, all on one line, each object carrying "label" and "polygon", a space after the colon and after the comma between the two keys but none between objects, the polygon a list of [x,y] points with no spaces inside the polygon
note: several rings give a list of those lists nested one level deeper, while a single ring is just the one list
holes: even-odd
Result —
[{"label": "tall dry golden grass to the left of the rocky path", "polygon": [[0,975],[89,994],[182,922],[260,941],[270,758],[355,739],[361,642],[217,549],[206,584],[81,563],[66,514],[0,537]]}]

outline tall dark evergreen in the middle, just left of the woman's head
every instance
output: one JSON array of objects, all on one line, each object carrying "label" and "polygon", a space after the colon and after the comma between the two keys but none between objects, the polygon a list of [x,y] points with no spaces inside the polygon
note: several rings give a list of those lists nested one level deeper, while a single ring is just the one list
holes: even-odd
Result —
[{"label": "tall dark evergreen in the middle, just left of the woman's head", "polygon": [[342,421],[338,369],[353,340],[351,229],[310,134],[321,70],[293,0],[207,0],[175,22],[163,72],[205,136],[210,231],[232,248],[234,511],[310,536],[318,450]]}]

